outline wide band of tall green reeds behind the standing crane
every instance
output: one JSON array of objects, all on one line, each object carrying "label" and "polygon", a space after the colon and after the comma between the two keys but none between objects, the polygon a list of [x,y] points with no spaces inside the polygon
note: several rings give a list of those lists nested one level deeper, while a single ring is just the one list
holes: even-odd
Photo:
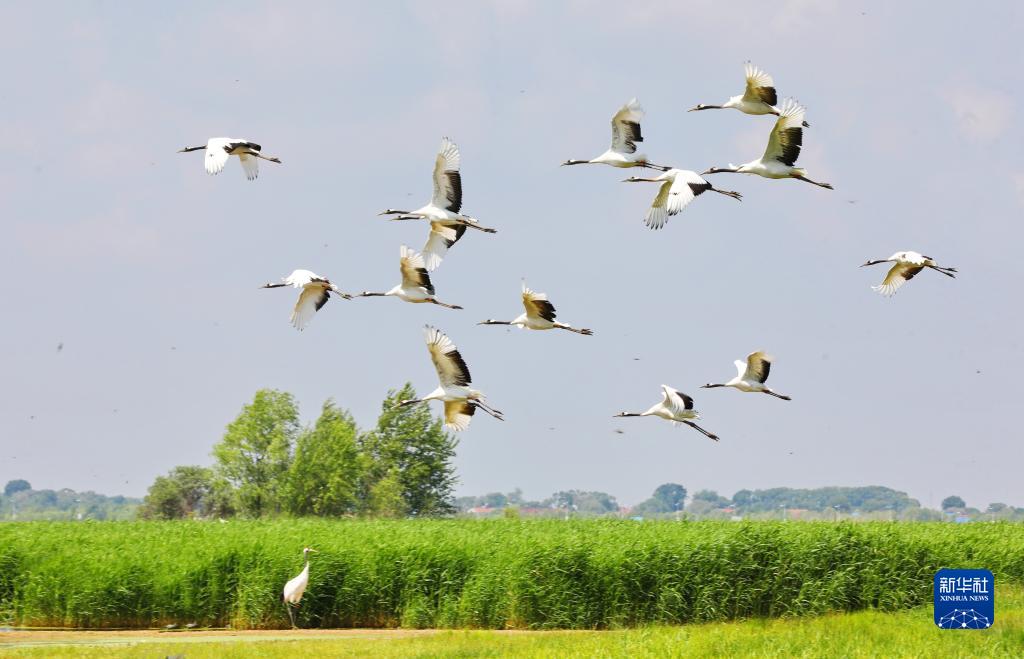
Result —
[{"label": "wide band of tall green reeds behind the standing crane", "polygon": [[607,628],[931,601],[940,567],[1024,582],[1024,525],[632,521],[0,524],[0,621]]}]

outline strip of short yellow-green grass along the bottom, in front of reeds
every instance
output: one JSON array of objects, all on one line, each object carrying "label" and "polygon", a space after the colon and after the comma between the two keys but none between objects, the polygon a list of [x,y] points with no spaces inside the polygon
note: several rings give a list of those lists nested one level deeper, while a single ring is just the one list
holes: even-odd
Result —
[{"label": "strip of short yellow-green grass along the bottom, in front of reeds", "polygon": [[[812,618],[719,622],[612,631],[441,631],[415,638],[209,643],[187,634],[175,642],[122,646],[3,648],[12,657],[1020,657],[1024,651],[1024,588],[999,586],[995,625],[943,630],[931,606],[896,613],[862,611]],[[386,632],[385,632],[386,633]]]}]

